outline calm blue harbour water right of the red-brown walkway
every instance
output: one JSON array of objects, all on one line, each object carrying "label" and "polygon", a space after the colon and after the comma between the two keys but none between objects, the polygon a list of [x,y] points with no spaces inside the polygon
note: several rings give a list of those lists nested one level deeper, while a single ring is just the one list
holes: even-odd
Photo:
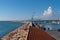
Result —
[{"label": "calm blue harbour water right of the red-brown walkway", "polygon": [[60,24],[58,24],[58,23],[39,22],[39,25],[42,25],[42,27],[50,27],[51,30],[59,30],[60,29]]}]

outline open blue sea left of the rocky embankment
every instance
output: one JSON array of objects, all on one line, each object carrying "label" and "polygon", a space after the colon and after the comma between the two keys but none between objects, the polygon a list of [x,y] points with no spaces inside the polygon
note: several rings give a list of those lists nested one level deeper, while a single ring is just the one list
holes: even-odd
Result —
[{"label": "open blue sea left of the rocky embankment", "polygon": [[22,25],[22,22],[0,21],[0,38]]}]

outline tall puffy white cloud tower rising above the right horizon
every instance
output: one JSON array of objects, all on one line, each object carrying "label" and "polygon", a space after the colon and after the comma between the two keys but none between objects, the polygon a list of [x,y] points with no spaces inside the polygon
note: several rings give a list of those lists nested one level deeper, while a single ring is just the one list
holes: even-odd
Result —
[{"label": "tall puffy white cloud tower rising above the right horizon", "polygon": [[40,16],[39,19],[41,19],[41,20],[52,20],[52,19],[54,19],[52,7],[49,6],[48,9],[43,12],[43,15]]}]

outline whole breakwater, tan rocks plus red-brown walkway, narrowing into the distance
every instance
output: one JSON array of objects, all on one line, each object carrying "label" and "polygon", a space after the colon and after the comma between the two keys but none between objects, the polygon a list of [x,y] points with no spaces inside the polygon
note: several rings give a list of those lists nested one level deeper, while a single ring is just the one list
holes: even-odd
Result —
[{"label": "whole breakwater, tan rocks plus red-brown walkway, narrowing into the distance", "polygon": [[[43,34],[47,35],[47,37]],[[26,22],[24,25],[5,35],[1,40],[48,40],[49,38],[55,40],[47,32],[38,27],[37,24]]]}]

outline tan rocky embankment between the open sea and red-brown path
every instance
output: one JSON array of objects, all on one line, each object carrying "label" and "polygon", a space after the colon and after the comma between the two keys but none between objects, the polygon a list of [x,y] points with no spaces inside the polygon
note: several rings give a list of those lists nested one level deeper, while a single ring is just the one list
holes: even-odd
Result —
[{"label": "tan rocky embankment between the open sea and red-brown path", "polygon": [[27,40],[28,31],[29,23],[25,23],[23,26],[5,35],[1,40]]}]

